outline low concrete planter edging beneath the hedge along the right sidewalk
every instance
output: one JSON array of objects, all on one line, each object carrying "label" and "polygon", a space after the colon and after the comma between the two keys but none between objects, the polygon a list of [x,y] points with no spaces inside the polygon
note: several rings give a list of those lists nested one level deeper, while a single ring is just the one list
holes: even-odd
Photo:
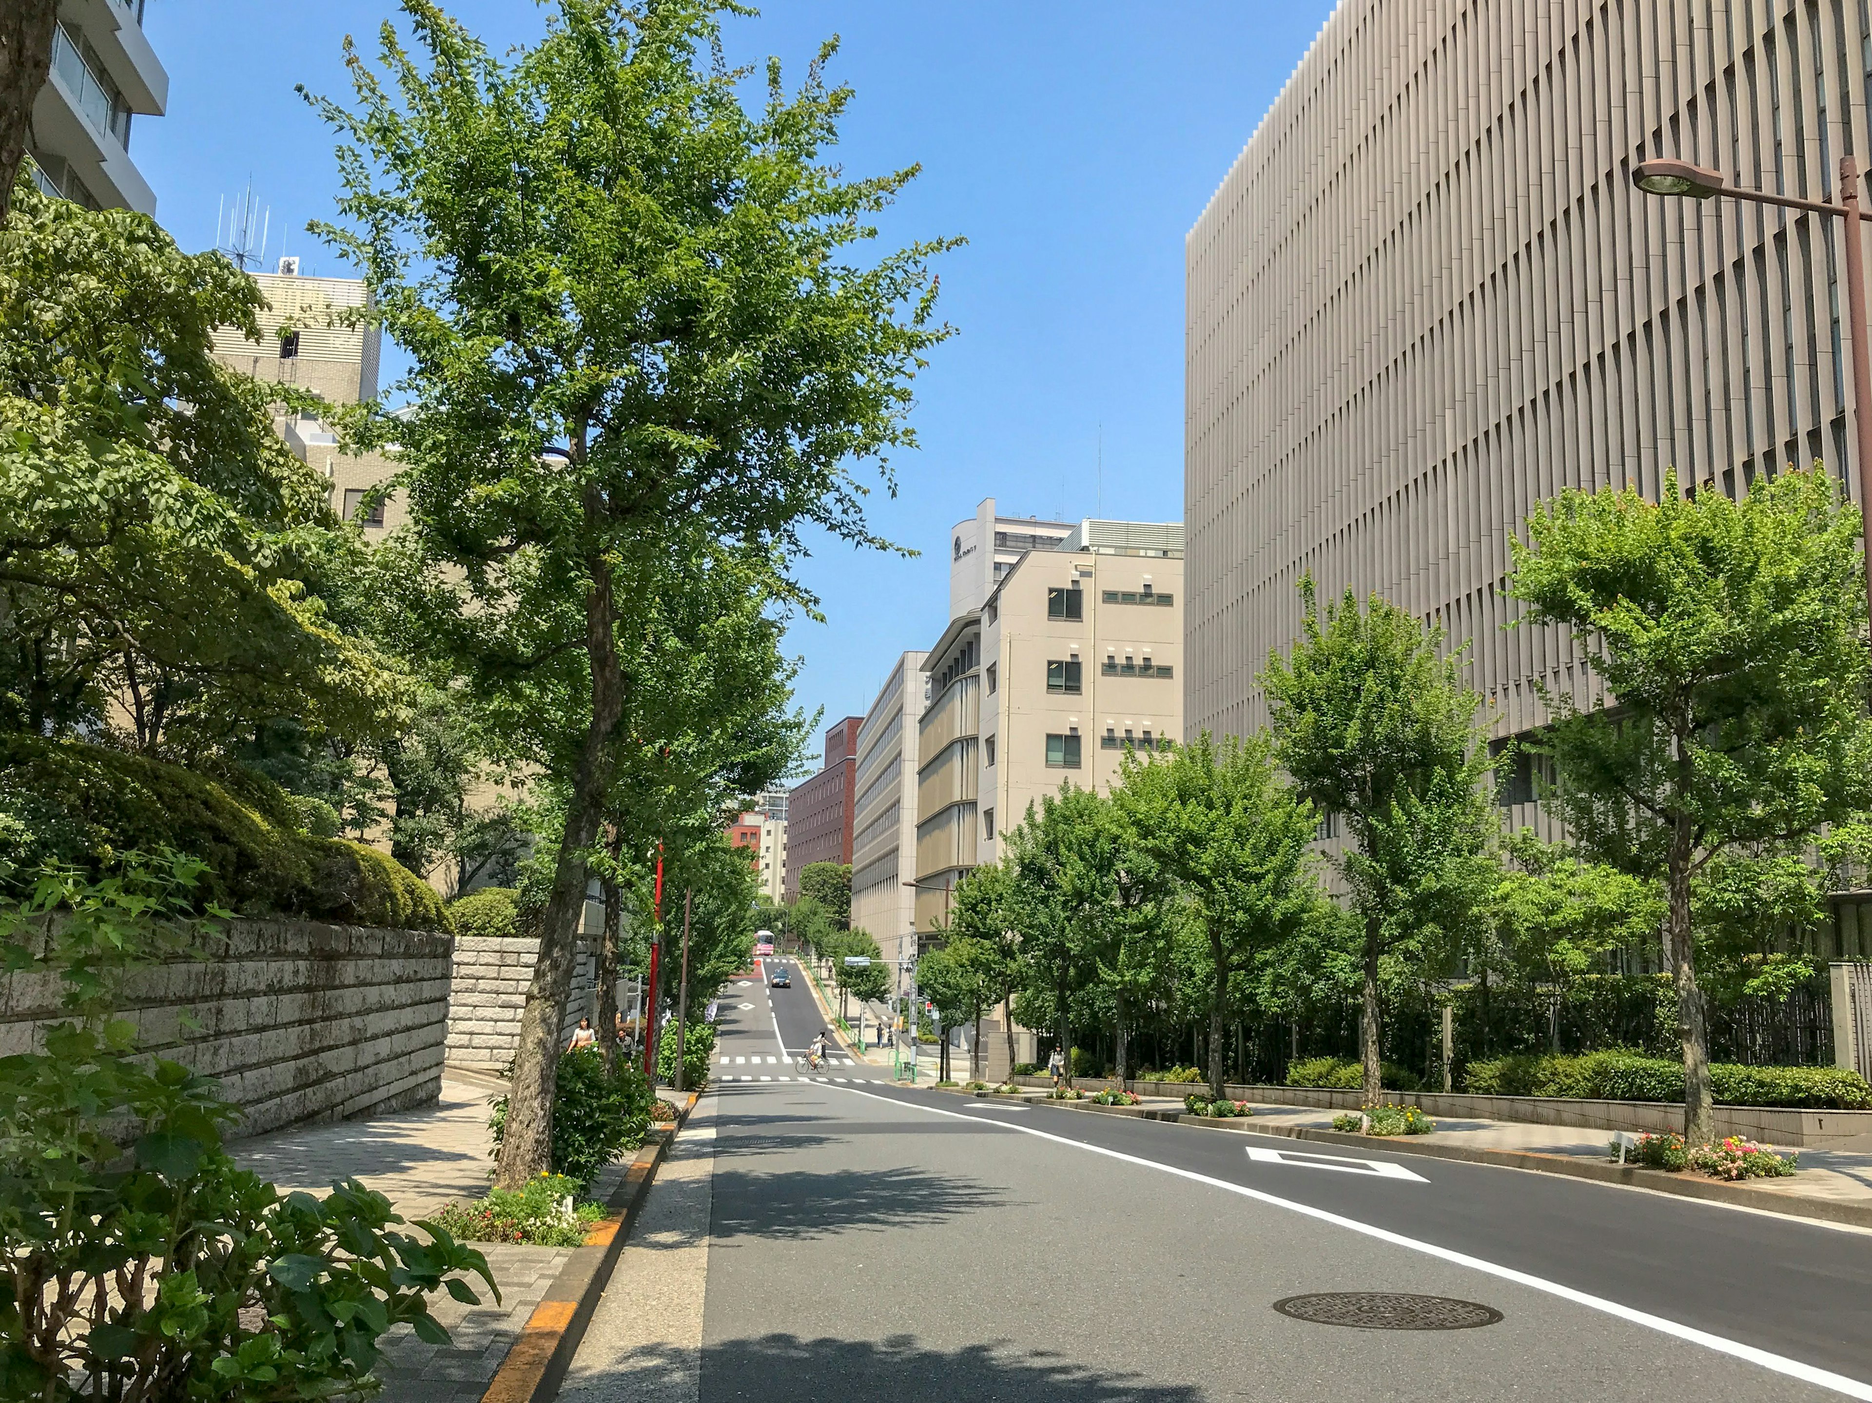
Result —
[{"label": "low concrete planter edging beneath the hedge along the right sidewalk", "polygon": [[[1015,1078],[1026,1087],[1048,1087],[1046,1078]],[[1191,1087],[1183,1081],[1106,1081],[1073,1078],[1082,1091],[1103,1091],[1123,1085],[1144,1096],[1172,1096],[1183,1100]],[[1222,1092],[1241,1102],[1264,1106],[1309,1106],[1322,1111],[1357,1111],[1365,1102],[1361,1091],[1327,1091],[1322,1087],[1222,1087]],[[1537,1126],[1576,1126],[1582,1130],[1631,1130],[1632,1134],[1662,1134],[1683,1130],[1683,1106],[1674,1102],[1589,1102],[1567,1096],[1470,1096],[1466,1092],[1393,1091],[1385,1096],[1398,1106],[1415,1106],[1432,1121],[1520,1121]],[[1717,1139],[1741,1135],[1769,1145],[1816,1149],[1855,1135],[1872,1135],[1872,1111],[1801,1111],[1777,1106],[1718,1106],[1715,1117]]]}]

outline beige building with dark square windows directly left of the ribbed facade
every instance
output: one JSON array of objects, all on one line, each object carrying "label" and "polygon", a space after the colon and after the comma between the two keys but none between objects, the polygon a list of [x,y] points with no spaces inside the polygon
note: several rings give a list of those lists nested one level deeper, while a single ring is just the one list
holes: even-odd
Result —
[{"label": "beige building with dark square windows directly left of the ribbed facade", "polygon": [[1084,520],[949,621],[923,660],[917,932],[1041,795],[1106,789],[1127,743],[1181,735],[1181,593],[1179,524]]}]

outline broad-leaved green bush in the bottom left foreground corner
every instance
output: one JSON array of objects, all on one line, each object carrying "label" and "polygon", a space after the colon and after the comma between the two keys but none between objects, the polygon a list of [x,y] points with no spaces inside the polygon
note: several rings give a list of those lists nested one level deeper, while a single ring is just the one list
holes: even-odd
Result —
[{"label": "broad-leaved green bush in the bottom left foreground corner", "polygon": [[[122,859],[43,870],[0,904],[9,971],[56,978],[69,1021],[0,1059],[0,1394],[36,1399],[322,1397],[365,1390],[378,1339],[447,1334],[427,1296],[474,1304],[481,1253],[395,1231],[356,1180],[318,1199],[238,1169],[213,1083],[137,1053],[112,1018],[135,965],[204,950],[202,868]],[[498,1298],[498,1293],[496,1293]]]}]

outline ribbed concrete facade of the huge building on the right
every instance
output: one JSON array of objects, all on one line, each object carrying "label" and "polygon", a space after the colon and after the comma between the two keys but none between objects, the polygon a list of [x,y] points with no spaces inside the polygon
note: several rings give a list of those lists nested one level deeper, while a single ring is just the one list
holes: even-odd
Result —
[{"label": "ribbed concrete facade of the huge building on the right", "polygon": [[1851,481],[1838,221],[1640,195],[1674,155],[1833,198],[1872,153],[1866,0],[1346,0],[1187,241],[1185,726],[1265,722],[1295,584],[1453,640],[1496,733],[1586,700],[1503,630],[1563,486]]}]

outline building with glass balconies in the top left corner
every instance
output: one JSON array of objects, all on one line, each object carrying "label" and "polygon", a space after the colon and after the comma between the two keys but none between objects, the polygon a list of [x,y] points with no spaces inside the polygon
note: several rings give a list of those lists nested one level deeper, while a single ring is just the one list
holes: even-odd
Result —
[{"label": "building with glass balconies in the top left corner", "polygon": [[47,195],[90,210],[155,213],[155,191],[129,157],[131,123],[168,105],[168,73],[142,34],[142,6],[60,0],[52,71],[26,133]]}]

